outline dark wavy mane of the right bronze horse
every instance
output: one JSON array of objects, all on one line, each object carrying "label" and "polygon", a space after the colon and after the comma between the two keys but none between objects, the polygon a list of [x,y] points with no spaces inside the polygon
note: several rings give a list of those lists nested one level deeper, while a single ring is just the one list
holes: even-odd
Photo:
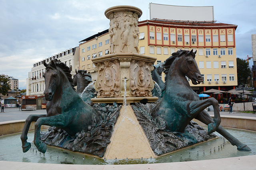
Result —
[{"label": "dark wavy mane of the right bronze horse", "polygon": [[[178,50],[177,52],[172,53],[172,55],[166,59],[166,62],[164,63],[164,74],[166,74],[166,76],[164,77],[164,88],[162,89],[162,96],[166,90],[166,84],[167,84],[167,80],[168,80],[168,76],[167,74],[169,73],[170,67],[173,63],[173,61],[177,58],[177,57],[181,57],[183,55],[192,55],[194,58],[196,57],[196,51],[195,53],[193,52],[193,49],[191,51],[189,50]],[[161,97],[162,97],[161,96]]]}]

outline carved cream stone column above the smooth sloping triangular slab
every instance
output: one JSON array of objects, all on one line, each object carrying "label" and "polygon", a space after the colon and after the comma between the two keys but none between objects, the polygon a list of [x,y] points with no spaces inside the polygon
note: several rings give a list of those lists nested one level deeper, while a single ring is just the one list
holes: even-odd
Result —
[{"label": "carved cream stone column above the smooth sloping triangular slab", "polygon": [[92,102],[122,103],[124,82],[127,103],[142,99],[156,102],[158,98],[151,94],[154,88],[151,71],[156,58],[138,54],[138,18],[142,11],[134,6],[114,6],[105,15],[110,19],[110,54],[92,59],[98,72],[94,87],[98,96]]}]

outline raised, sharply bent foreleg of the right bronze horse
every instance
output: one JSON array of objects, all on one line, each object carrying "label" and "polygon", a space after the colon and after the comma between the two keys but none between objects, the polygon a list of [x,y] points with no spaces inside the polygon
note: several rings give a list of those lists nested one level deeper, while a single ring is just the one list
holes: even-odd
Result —
[{"label": "raised, sharply bent foreleg of the right bronze horse", "polygon": [[[197,114],[201,111],[204,111],[204,109],[208,106],[213,106],[214,109],[214,119],[212,123],[208,124],[208,133],[211,134],[212,132],[216,131],[218,126],[220,125],[221,119],[220,119],[220,110],[218,106],[218,101],[214,98],[209,98],[205,100],[198,100],[191,102],[190,107],[190,114]],[[206,112],[207,113],[207,112]]]}]

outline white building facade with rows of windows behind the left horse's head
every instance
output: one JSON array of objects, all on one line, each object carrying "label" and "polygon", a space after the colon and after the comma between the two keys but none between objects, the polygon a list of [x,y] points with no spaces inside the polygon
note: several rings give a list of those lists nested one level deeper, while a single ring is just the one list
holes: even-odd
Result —
[{"label": "white building facade with rows of windows behind the left horse's head", "polygon": [[33,68],[31,68],[31,72],[28,73],[27,78],[26,91],[28,96],[44,95],[45,83],[43,74],[46,71],[46,68],[43,61],[50,63],[53,59],[58,59],[65,63],[71,69],[71,74],[75,75],[75,69],[79,69],[79,47],[67,49],[61,53],[48,57],[47,59],[34,63]]}]

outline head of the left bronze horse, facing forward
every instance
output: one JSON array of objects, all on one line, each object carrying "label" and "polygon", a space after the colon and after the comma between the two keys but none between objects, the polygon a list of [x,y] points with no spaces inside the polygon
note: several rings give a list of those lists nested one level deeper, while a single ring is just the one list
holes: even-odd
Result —
[{"label": "head of the left bronze horse, facing forward", "polygon": [[50,64],[43,62],[46,67],[46,71],[43,75],[45,82],[44,96],[45,99],[51,101],[56,88],[60,85],[60,73],[57,66],[52,60]]}]

